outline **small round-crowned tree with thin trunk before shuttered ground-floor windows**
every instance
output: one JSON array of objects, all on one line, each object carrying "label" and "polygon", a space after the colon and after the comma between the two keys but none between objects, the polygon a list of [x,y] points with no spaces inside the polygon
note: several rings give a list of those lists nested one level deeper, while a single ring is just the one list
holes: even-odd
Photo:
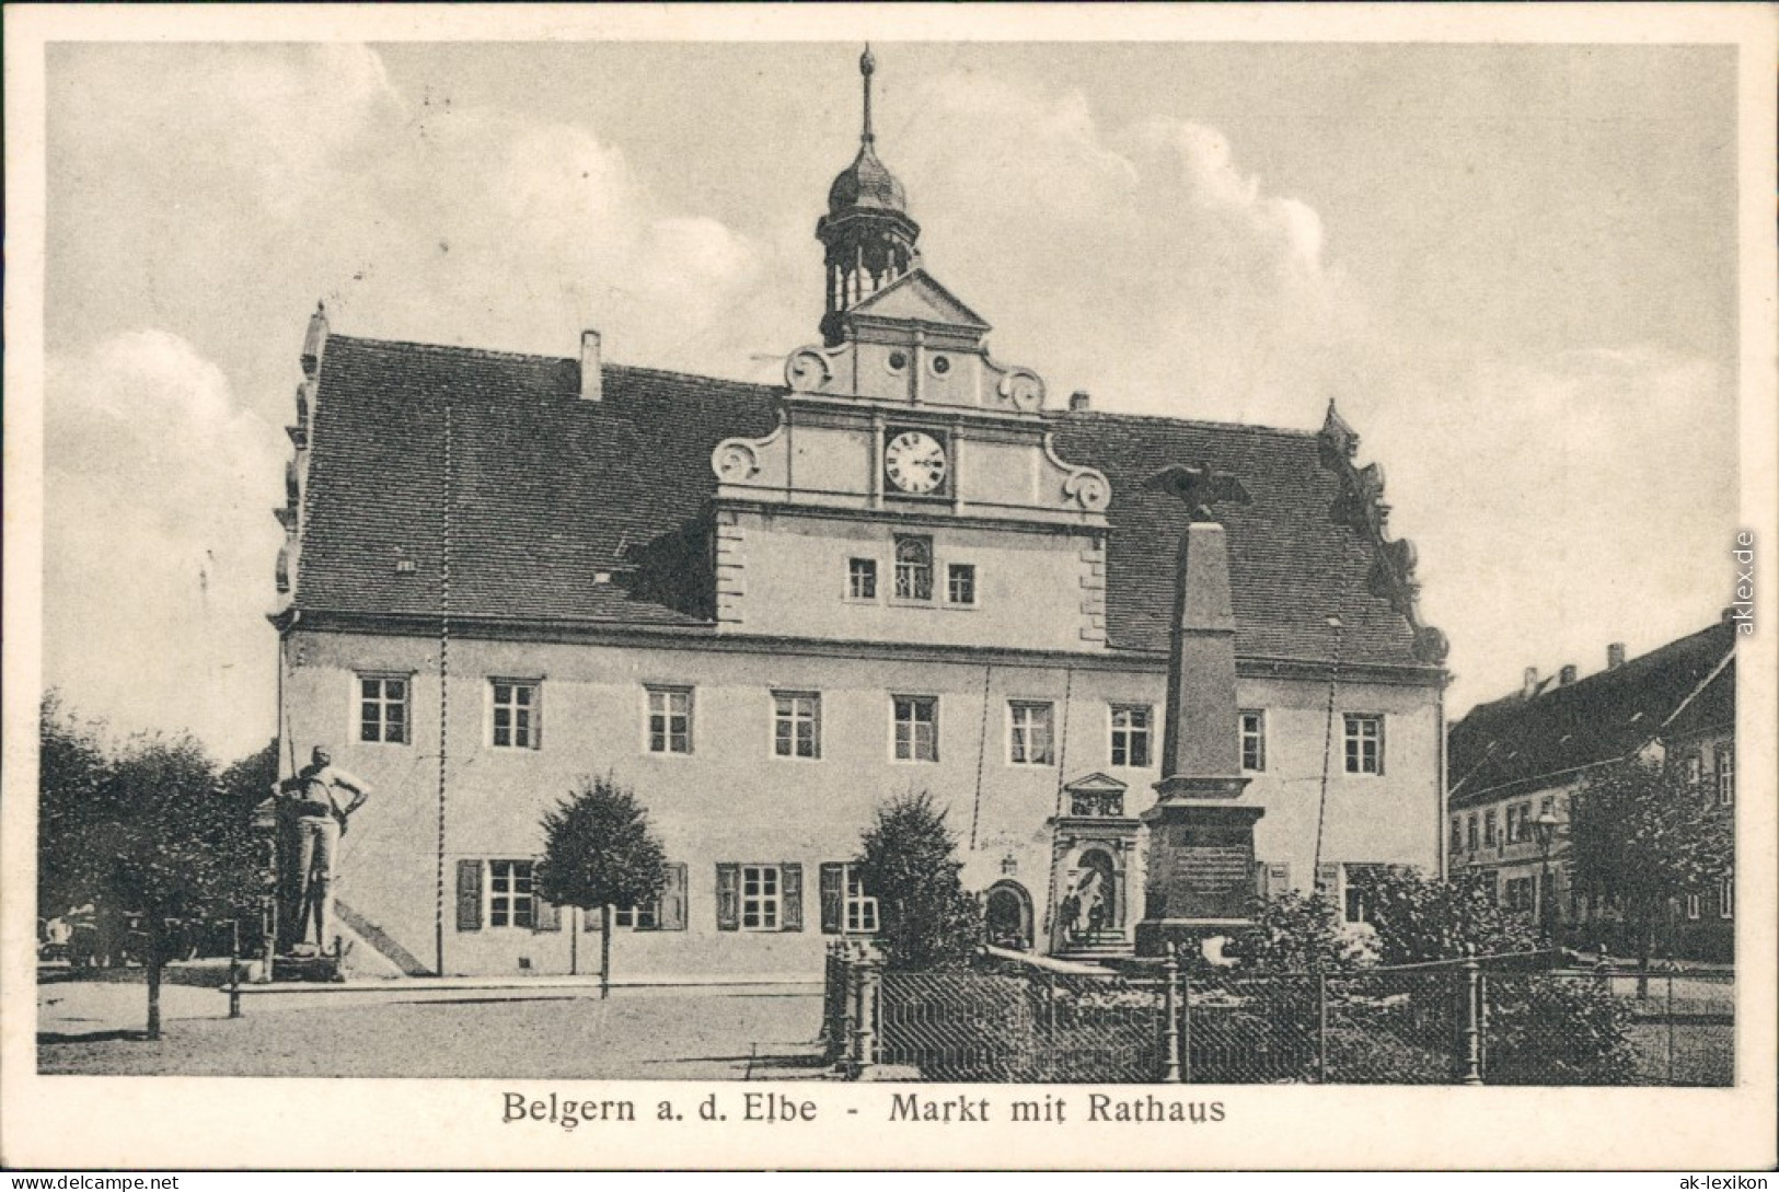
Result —
[{"label": "small round-crowned tree with thin trunk before shuttered ground-floor windows", "polygon": [[580,790],[544,813],[544,858],[537,893],[557,906],[600,907],[600,996],[612,984],[612,907],[662,897],[667,854],[649,829],[648,811],[610,776],[584,779]]}]

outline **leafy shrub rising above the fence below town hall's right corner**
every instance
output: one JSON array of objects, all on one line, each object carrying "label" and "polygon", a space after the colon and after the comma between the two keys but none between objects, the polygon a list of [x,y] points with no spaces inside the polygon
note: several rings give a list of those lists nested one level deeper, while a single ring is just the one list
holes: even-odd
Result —
[{"label": "leafy shrub rising above the fence below town hall's right corner", "polygon": [[1352,881],[1361,886],[1381,964],[1455,961],[1466,946],[1482,957],[1539,946],[1530,916],[1498,906],[1493,874],[1430,879],[1413,870],[1363,870]]}]

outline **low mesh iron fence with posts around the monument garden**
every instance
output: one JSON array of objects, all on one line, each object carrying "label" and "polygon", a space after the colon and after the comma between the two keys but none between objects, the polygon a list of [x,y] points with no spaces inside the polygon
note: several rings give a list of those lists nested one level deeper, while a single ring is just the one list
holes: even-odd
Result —
[{"label": "low mesh iron fence with posts around the monument garden", "polygon": [[[847,1076],[1019,1083],[1731,1083],[1729,979],[1501,971],[884,971],[827,957]],[[1503,959],[1505,962],[1505,959]],[[1638,996],[1647,993],[1647,996]]]}]

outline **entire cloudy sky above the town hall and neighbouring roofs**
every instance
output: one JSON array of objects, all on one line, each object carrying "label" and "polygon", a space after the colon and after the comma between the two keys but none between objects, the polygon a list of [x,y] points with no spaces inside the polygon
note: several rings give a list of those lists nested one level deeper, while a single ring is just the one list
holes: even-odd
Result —
[{"label": "entire cloudy sky above the town hall and neighbouring roofs", "polygon": [[[274,731],[272,560],[336,331],[776,381],[852,44],[52,44],[44,678]],[[1000,359],[1388,473],[1450,706],[1703,628],[1736,527],[1735,57],[877,46],[879,153]],[[148,644],[144,644],[148,642]]]}]

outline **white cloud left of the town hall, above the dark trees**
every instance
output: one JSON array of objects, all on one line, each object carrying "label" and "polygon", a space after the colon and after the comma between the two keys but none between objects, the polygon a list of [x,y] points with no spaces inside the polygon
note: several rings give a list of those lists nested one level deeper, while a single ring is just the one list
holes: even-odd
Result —
[{"label": "white cloud left of the town hall, above the dark trees", "polygon": [[272,735],[283,438],[164,331],[48,361],[44,678],[82,713],[224,760]]}]

